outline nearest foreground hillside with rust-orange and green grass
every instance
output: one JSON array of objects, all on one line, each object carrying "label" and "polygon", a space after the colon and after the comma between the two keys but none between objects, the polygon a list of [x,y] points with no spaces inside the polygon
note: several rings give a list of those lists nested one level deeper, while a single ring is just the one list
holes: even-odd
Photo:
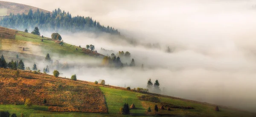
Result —
[{"label": "nearest foreground hillside with rust-orange and green grass", "polygon": [[[163,105],[165,109],[157,112],[162,116],[255,117],[255,114],[249,112],[221,106],[221,111],[214,111],[215,106],[207,103],[134,92],[121,87],[96,85],[87,81],[55,78],[47,74],[34,74],[20,70],[20,74],[16,76],[15,70],[3,68],[0,68],[0,92],[0,110],[8,110],[17,115],[23,113],[26,117],[121,116],[119,108],[123,103],[130,105],[134,103],[136,109],[131,109],[131,114],[136,116],[154,115],[154,105],[159,108]],[[157,102],[151,102],[152,97]],[[31,109],[23,105],[26,98],[30,98],[34,104]],[[47,103],[44,103],[44,99]],[[152,112],[146,112],[149,106]],[[168,107],[171,111],[166,110]]]}]

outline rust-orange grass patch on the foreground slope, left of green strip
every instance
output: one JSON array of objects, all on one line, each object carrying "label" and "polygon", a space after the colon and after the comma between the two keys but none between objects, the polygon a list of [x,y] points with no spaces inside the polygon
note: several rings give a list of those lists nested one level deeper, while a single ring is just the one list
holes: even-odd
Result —
[{"label": "rust-orange grass patch on the foreground slope, left of green strip", "polygon": [[[102,91],[87,82],[55,78],[46,74],[33,74],[0,69],[0,103],[24,104],[27,98],[35,105],[49,106],[48,111],[107,113]],[[43,103],[46,99],[47,103]]]}]

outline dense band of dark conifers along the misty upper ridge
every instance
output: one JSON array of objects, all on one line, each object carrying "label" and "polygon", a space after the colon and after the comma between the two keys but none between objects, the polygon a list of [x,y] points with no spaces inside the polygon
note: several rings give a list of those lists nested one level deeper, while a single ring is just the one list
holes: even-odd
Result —
[{"label": "dense band of dark conifers along the misty upper ridge", "polygon": [[28,14],[10,14],[0,20],[0,26],[14,29],[26,29],[38,27],[42,31],[91,31],[96,33],[106,32],[120,35],[120,32],[112,27],[105,27],[91,17],[72,17],[69,12],[55,9],[52,13],[29,10]]}]

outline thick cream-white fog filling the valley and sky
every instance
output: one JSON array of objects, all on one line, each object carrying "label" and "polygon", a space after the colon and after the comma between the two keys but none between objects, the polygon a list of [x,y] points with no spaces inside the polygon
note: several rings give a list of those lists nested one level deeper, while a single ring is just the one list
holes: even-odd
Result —
[{"label": "thick cream-white fog filling the valley and sky", "polygon": [[[105,39],[108,34],[62,33],[64,42],[73,45],[93,44],[98,51],[102,47],[116,53],[129,51],[137,66],[120,70],[84,67],[63,76],[76,73],[79,80],[105,79],[106,84],[131,88],[145,88],[149,78],[158,79],[165,95],[256,109],[256,0],[8,1],[90,16],[102,25],[117,28],[122,35],[161,47],[125,45]],[[49,36],[48,32],[42,34]],[[167,46],[174,52],[166,53]]]}]

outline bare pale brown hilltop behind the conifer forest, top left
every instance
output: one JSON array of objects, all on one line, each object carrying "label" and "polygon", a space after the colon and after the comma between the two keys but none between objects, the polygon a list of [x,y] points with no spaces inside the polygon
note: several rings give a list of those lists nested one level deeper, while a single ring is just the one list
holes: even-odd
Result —
[{"label": "bare pale brown hilltop behind the conifer forest, top left", "polygon": [[[28,14],[29,9],[32,9],[33,11],[36,11],[38,8],[33,7],[33,6],[28,6],[28,5],[23,5],[19,3],[11,3],[11,2],[5,2],[5,1],[0,1],[0,17],[1,16],[9,16],[10,13],[13,14]],[[44,9],[40,9],[39,11],[42,11],[44,13],[48,13],[49,11],[46,11]]]}]

